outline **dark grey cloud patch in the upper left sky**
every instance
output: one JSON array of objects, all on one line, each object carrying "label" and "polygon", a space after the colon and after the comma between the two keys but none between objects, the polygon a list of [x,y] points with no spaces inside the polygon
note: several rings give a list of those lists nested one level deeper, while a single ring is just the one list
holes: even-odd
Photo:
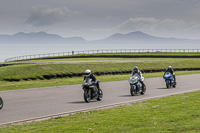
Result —
[{"label": "dark grey cloud patch in the upper left sky", "polygon": [[81,15],[80,12],[72,11],[67,7],[63,8],[47,8],[47,7],[33,7],[31,15],[25,23],[33,26],[41,27],[53,25],[55,23],[63,22],[67,18]]}]

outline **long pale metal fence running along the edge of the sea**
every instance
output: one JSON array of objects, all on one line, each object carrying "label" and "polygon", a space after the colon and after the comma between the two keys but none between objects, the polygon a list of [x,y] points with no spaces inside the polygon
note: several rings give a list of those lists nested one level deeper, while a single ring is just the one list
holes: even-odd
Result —
[{"label": "long pale metal fence running along the edge of the sea", "polygon": [[101,50],[85,50],[85,51],[71,51],[71,52],[60,52],[60,53],[47,53],[47,54],[35,54],[35,55],[24,55],[8,58],[5,62],[27,60],[35,58],[55,57],[55,56],[67,56],[77,54],[98,54],[98,53],[145,53],[145,52],[182,52],[192,53],[200,52],[200,49],[101,49]]}]

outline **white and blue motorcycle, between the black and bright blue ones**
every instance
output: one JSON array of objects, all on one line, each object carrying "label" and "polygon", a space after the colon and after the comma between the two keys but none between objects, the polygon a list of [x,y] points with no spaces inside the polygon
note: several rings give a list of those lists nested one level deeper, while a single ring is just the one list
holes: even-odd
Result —
[{"label": "white and blue motorcycle, between the black and bright blue ones", "polygon": [[138,75],[130,77],[129,84],[130,84],[130,93],[132,96],[135,96],[139,93],[141,95],[144,95],[144,93],[146,92],[146,86],[145,84],[144,86],[142,86],[142,83],[140,82],[140,76]]}]

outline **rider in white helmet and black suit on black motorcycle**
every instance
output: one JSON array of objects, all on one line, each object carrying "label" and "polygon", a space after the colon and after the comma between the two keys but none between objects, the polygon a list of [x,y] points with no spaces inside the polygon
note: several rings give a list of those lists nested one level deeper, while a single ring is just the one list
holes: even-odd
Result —
[{"label": "rider in white helmet and black suit on black motorcycle", "polygon": [[91,70],[86,70],[85,71],[85,76],[84,76],[84,80],[86,78],[86,76],[89,76],[90,79],[92,79],[92,81],[94,82],[94,84],[97,86],[97,90],[94,90],[94,97],[97,96],[97,92],[99,92],[99,80],[96,79],[95,75],[91,72]]}]

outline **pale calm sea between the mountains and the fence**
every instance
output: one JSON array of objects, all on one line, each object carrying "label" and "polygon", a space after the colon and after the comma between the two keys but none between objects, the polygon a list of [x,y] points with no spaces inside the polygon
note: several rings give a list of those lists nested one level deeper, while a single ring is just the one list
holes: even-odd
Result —
[{"label": "pale calm sea between the mountains and the fence", "polygon": [[0,44],[0,62],[24,55],[101,49],[200,49],[200,46],[194,44]]}]

